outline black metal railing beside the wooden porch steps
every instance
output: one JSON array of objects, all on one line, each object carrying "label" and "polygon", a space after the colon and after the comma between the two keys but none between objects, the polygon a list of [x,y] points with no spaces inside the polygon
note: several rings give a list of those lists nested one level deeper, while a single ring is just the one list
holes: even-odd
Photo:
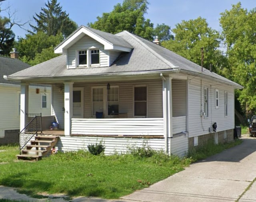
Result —
[{"label": "black metal railing beside the wooden porch steps", "polygon": [[19,132],[20,151],[34,136],[37,136],[38,131],[42,133],[42,114],[27,114],[27,123]]}]

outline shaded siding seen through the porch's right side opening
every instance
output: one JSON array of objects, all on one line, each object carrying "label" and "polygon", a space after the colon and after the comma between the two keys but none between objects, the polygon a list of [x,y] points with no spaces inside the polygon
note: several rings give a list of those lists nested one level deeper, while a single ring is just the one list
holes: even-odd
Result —
[{"label": "shaded siding seen through the porch's right side opening", "polygon": [[186,80],[172,79],[172,116],[186,116]]}]

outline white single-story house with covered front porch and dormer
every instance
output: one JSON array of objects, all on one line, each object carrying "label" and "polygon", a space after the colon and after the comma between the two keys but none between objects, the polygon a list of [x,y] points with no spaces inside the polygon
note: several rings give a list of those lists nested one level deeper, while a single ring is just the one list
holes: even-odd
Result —
[{"label": "white single-story house with covered front porch and dormer", "polygon": [[154,42],[81,26],[55,53],[62,55],[7,79],[21,81],[25,112],[27,85],[52,84],[59,150],[102,141],[112,154],[146,142],[184,156],[210,138],[233,140],[234,89],[242,86]]}]

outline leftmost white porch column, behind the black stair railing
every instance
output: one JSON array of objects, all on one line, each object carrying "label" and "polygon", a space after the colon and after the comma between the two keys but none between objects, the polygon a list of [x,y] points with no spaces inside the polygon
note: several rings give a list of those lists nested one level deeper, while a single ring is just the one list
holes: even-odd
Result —
[{"label": "leftmost white porch column, behind the black stair railing", "polygon": [[28,84],[20,84],[20,131],[22,131],[27,123],[28,114]]}]

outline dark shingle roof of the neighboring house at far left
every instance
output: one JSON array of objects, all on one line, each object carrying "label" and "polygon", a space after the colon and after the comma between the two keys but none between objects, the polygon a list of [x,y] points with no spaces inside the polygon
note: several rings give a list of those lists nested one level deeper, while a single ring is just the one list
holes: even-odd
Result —
[{"label": "dark shingle roof of the neighboring house at far left", "polygon": [[19,84],[19,82],[8,81],[4,79],[3,76],[13,74],[28,67],[30,67],[29,64],[26,64],[18,59],[0,57],[0,83]]}]

